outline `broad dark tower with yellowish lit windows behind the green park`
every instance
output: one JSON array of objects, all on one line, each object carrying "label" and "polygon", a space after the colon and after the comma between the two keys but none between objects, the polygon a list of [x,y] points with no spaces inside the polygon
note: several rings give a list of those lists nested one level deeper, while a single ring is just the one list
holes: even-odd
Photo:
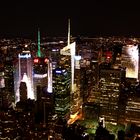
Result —
[{"label": "broad dark tower with yellowish lit windows behind the green park", "polygon": [[106,121],[118,122],[118,101],[120,95],[121,82],[124,78],[124,69],[113,69],[102,65],[100,66],[100,107],[101,116]]}]

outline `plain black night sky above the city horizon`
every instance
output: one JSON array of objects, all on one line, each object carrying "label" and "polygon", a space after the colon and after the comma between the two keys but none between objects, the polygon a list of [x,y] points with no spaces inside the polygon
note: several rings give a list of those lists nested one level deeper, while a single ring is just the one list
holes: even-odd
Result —
[{"label": "plain black night sky above the city horizon", "polygon": [[[76,1],[76,0],[75,0]],[[122,2],[123,1],[123,2]],[[140,6],[134,0],[72,2],[11,1],[0,5],[1,37],[67,36],[71,19],[73,36],[140,36]]]}]

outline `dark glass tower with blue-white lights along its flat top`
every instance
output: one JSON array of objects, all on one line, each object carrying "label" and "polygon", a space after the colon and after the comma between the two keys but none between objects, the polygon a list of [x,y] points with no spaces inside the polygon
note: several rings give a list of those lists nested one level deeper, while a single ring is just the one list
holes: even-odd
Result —
[{"label": "dark glass tower with blue-white lights along its flat top", "polygon": [[55,113],[68,120],[70,117],[70,74],[66,69],[53,71],[53,94]]}]

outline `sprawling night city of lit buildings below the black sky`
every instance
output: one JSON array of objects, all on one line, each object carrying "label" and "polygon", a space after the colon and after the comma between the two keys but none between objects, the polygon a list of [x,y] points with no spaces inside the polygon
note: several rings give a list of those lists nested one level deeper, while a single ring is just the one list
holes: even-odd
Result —
[{"label": "sprawling night city of lit buildings below the black sky", "polygon": [[[81,60],[75,65],[75,75],[71,75],[71,57],[60,53],[62,48],[70,47],[65,47],[65,38],[52,38],[49,44],[48,39],[44,40],[42,45],[47,47],[41,45],[42,58],[36,57],[40,36],[36,43],[25,39],[32,44],[29,47],[20,38],[0,41],[0,113],[3,114],[0,115],[0,138],[99,140],[108,137],[110,140],[113,137],[112,140],[122,140],[120,131],[124,138],[136,134],[139,137],[136,131],[140,129],[137,38],[83,37],[76,43],[78,55],[74,58]],[[127,70],[133,77],[127,75]],[[70,92],[73,76],[74,90]],[[28,96],[33,95],[28,94],[32,91],[31,77],[37,100]],[[17,88],[14,87],[19,87],[16,95],[20,95],[16,104]],[[132,129],[134,134],[129,135]]]}]

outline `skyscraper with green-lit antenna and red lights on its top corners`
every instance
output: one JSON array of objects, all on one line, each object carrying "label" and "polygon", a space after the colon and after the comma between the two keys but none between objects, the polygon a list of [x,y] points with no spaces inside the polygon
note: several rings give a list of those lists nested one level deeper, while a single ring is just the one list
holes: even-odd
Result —
[{"label": "skyscraper with green-lit antenna and red lights on its top corners", "polygon": [[[43,57],[40,49],[40,30],[38,29],[38,51],[37,57],[34,58],[33,65],[33,81],[34,81],[34,91],[35,99],[37,99],[37,94],[39,93],[37,89],[46,89],[45,92],[52,93],[52,64],[49,58]],[[37,87],[40,88],[37,88]],[[41,94],[41,93],[40,93]],[[39,95],[41,96],[41,95]]]}]

